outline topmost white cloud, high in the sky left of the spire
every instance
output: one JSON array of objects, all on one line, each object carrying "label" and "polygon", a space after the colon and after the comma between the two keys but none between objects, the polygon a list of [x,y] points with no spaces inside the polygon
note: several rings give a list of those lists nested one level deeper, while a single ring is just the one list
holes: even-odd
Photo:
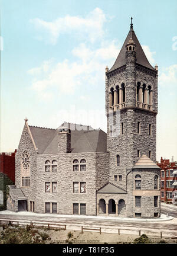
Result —
[{"label": "topmost white cloud, high in the sky left of the spire", "polygon": [[50,34],[48,39],[51,44],[57,43],[60,34],[71,32],[78,33],[80,37],[89,39],[93,43],[103,36],[103,24],[106,21],[106,17],[100,8],[95,8],[85,18],[67,15],[54,21],[44,21],[40,18],[30,21],[38,30],[47,31]]}]

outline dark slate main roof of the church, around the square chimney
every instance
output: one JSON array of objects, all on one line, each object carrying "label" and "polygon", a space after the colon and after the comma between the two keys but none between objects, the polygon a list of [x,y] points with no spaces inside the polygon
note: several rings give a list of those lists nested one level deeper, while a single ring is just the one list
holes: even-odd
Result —
[{"label": "dark slate main roof of the church, around the square chimney", "polygon": [[[60,127],[69,127],[71,130],[71,152],[106,152],[106,133],[94,130],[90,126],[64,123]],[[57,153],[58,129],[29,126],[38,153]],[[59,128],[59,127],[58,127]],[[76,129],[75,129],[76,128]]]}]

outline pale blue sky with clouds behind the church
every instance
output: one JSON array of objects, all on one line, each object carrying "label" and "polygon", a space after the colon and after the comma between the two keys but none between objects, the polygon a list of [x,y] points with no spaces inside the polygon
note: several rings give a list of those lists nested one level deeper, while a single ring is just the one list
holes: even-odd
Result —
[{"label": "pale blue sky with clouds behind the church", "polygon": [[2,0],[1,151],[14,151],[24,119],[57,128],[63,121],[106,132],[104,71],[133,28],[159,66],[157,160],[176,150],[176,0]]}]

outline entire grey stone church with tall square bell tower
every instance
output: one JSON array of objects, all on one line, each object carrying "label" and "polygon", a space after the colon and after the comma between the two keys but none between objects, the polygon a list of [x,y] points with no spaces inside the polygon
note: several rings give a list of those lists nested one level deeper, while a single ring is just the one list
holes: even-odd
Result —
[{"label": "entire grey stone church with tall square bell tower", "polygon": [[25,119],[8,210],[160,216],[158,66],[150,65],[132,23],[114,65],[106,67],[105,91],[107,134],[71,123],[35,127]]}]

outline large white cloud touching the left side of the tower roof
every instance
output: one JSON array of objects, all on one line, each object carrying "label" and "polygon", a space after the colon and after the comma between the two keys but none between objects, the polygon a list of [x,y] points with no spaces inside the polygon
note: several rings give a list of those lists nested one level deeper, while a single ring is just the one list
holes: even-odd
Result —
[{"label": "large white cloud touching the left side of the tower roof", "polygon": [[[76,88],[85,84],[94,88],[104,82],[106,65],[113,64],[119,51],[119,45],[115,41],[104,43],[104,46],[96,50],[91,50],[86,44],[80,44],[72,51],[76,57],[74,62],[65,59],[54,65],[51,61],[45,61],[40,67],[30,69],[28,72],[35,77],[32,89],[41,97],[48,90],[51,93],[53,88],[57,89],[58,94],[73,94]],[[46,63],[47,68],[44,68]],[[42,79],[38,71],[42,72]]]}]

